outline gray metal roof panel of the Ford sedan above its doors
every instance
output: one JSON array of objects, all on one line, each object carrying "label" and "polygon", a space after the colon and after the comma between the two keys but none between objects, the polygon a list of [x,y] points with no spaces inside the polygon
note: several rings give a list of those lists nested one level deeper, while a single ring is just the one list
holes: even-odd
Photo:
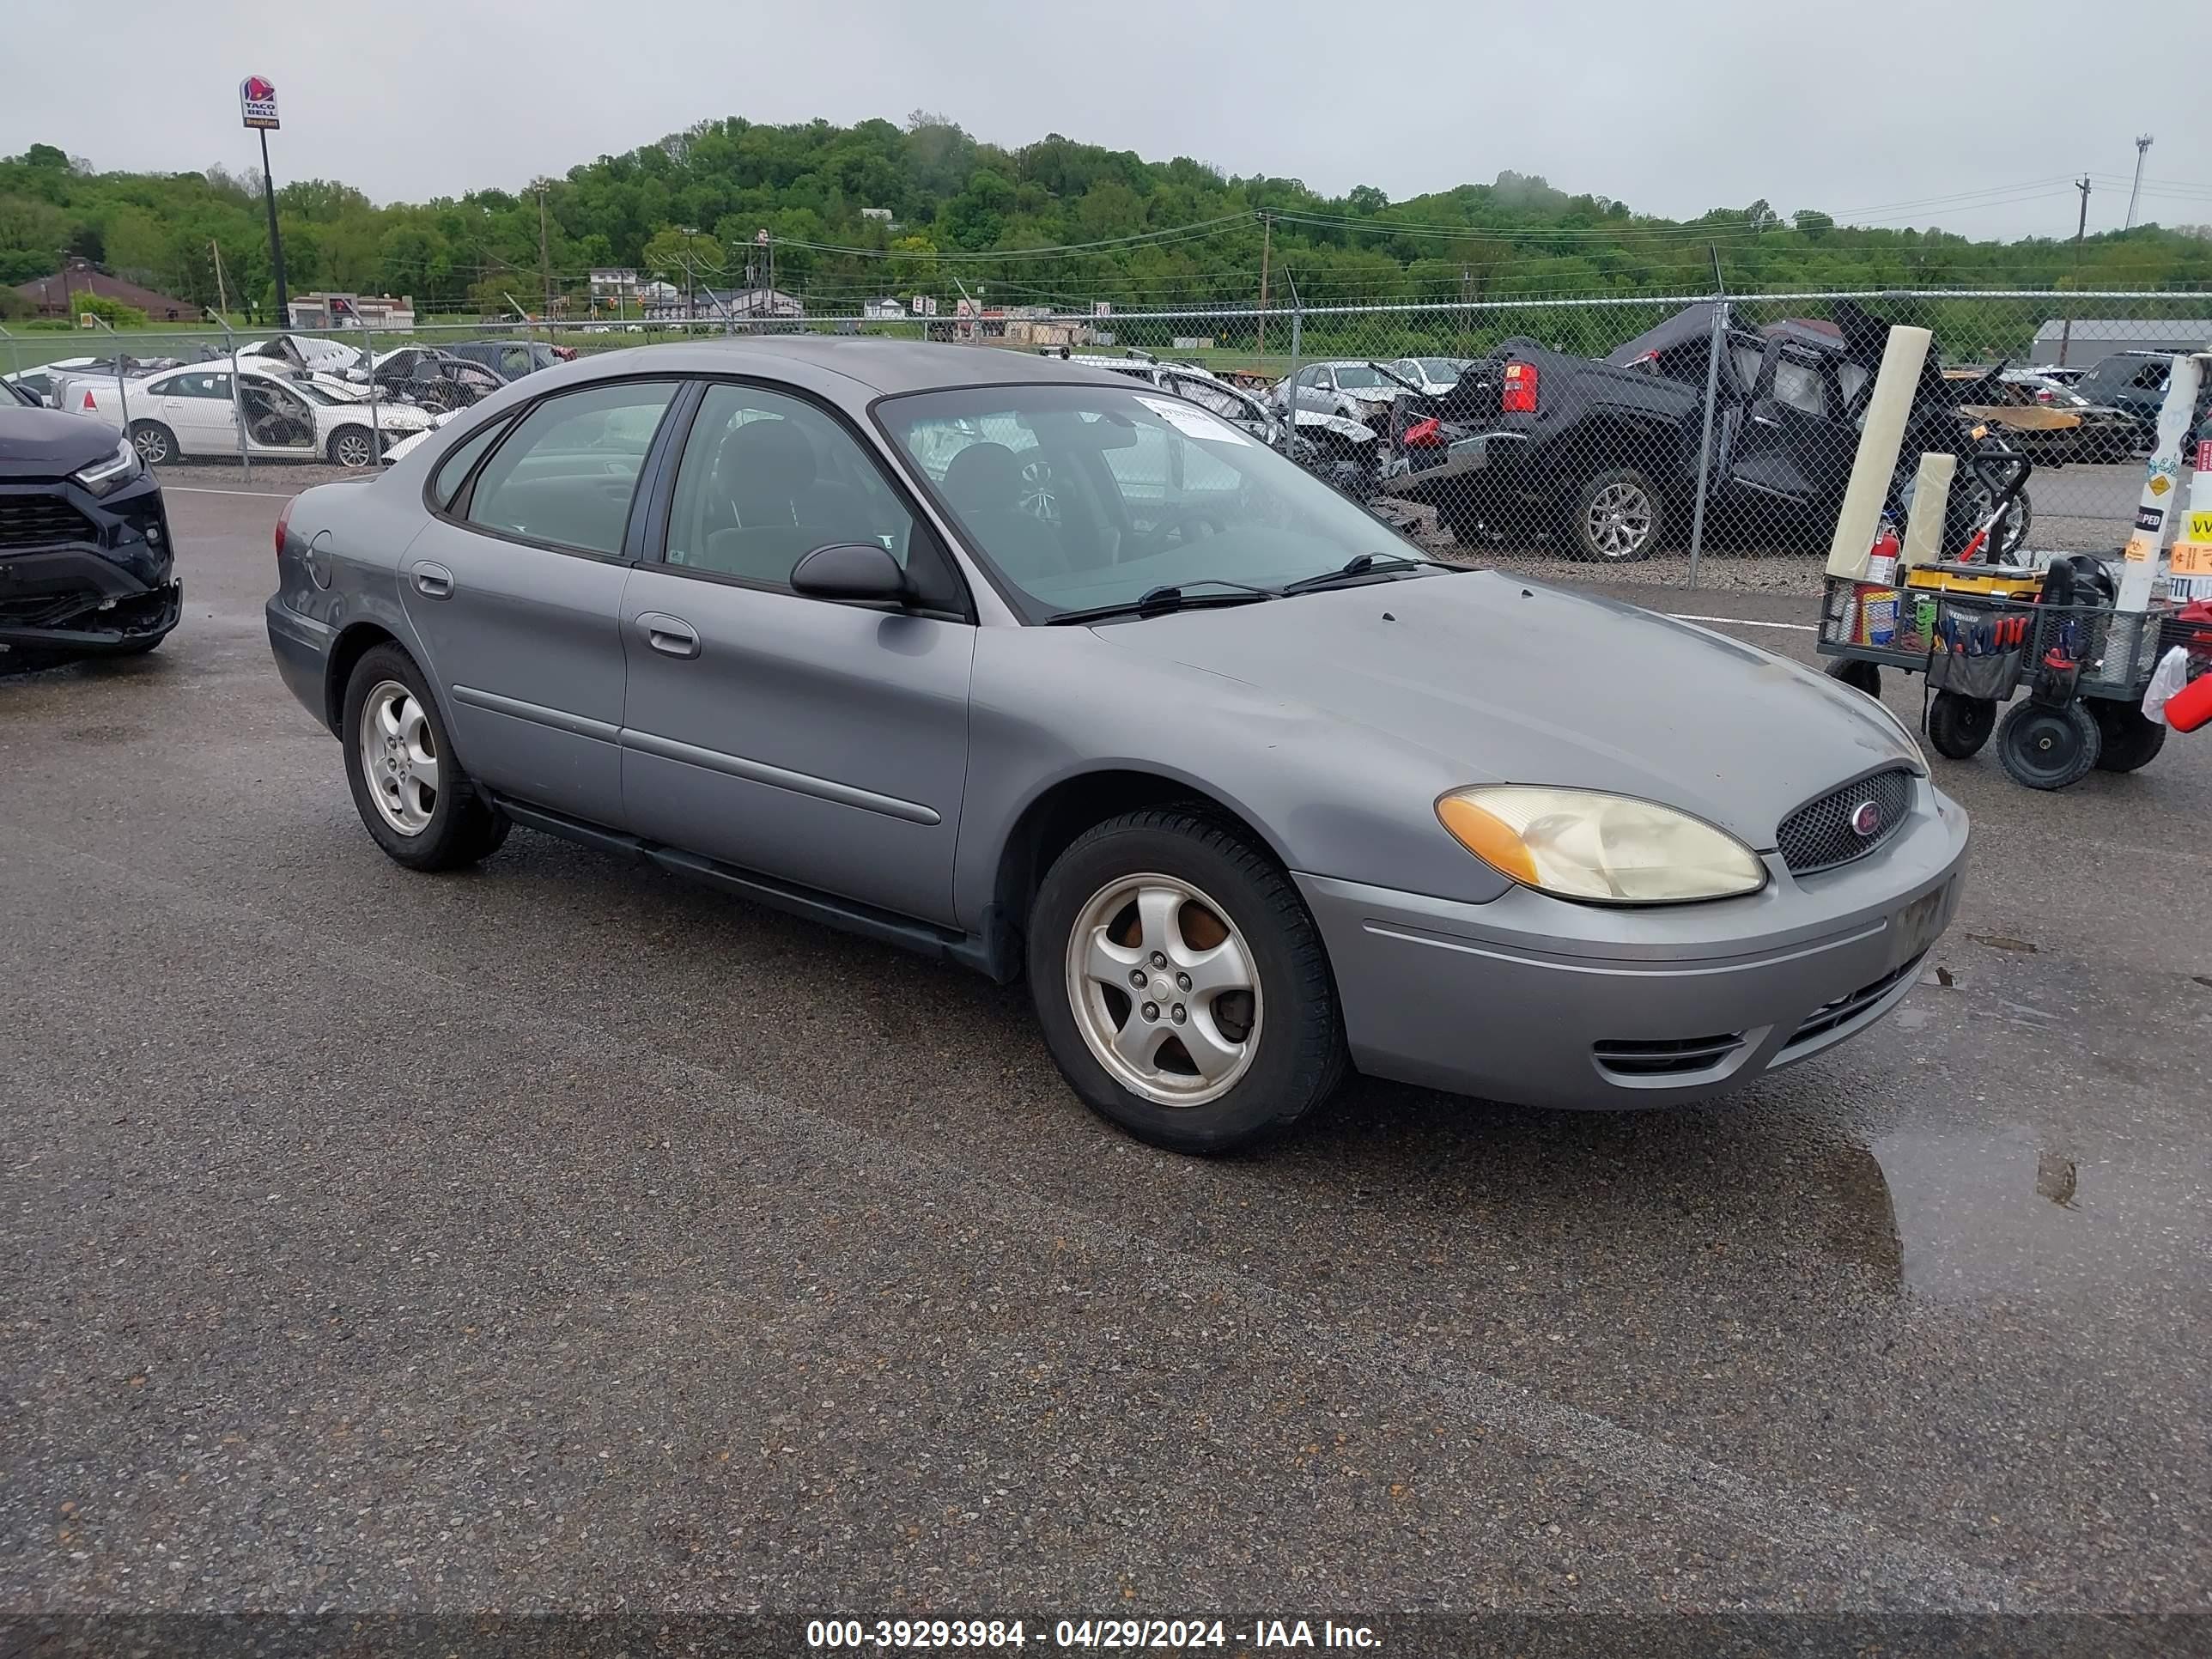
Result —
[{"label": "gray metal roof panel of the Ford sedan above its doors", "polygon": [[[672,341],[668,345],[635,345],[626,352],[602,352],[577,358],[562,378],[599,378],[580,369],[606,369],[619,363],[630,372],[650,365],[679,374],[743,374],[748,369],[781,374],[792,380],[818,380],[834,374],[869,392],[936,392],[962,385],[1115,385],[1128,376],[1110,369],[1086,369],[1079,363],[1006,352],[995,345],[940,345],[925,341],[885,341],[867,334],[772,334],[768,338]],[[770,367],[774,365],[774,367]],[[533,385],[544,385],[531,376]]]}]

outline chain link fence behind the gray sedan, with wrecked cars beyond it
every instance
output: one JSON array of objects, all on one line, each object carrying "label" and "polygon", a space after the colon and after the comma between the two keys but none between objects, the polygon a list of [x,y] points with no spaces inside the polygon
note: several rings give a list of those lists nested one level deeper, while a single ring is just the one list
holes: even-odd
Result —
[{"label": "chain link fence behind the gray sedan, with wrecked cars beyond it", "polygon": [[0,374],[128,427],[159,465],[372,471],[515,374],[577,354],[790,332],[1042,352],[1272,431],[1438,557],[1816,593],[1880,330],[1896,323],[1936,336],[1900,478],[1918,449],[1960,456],[1947,549],[1980,531],[2028,553],[2117,551],[2166,358],[2212,343],[2208,294],[1889,290],[1141,314],[962,305],[283,336],[18,327],[0,336]]}]

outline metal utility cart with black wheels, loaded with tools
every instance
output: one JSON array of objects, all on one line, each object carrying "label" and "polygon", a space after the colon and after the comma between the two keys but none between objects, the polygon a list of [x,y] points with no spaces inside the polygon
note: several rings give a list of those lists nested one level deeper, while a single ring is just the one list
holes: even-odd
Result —
[{"label": "metal utility cart with black wheels, loaded with tools", "polygon": [[[1869,695],[1882,668],[1927,675],[1929,745],[1964,761],[1995,732],[2004,770],[2031,790],[2148,765],[2166,745],[2166,726],[2141,712],[2150,672],[2172,646],[2212,653],[2212,624],[2170,606],[2053,604],[2044,584],[1966,564],[1911,571],[1896,588],[1829,577],[1818,648],[1829,675]],[[2000,723],[2022,686],[2028,697]]]}]

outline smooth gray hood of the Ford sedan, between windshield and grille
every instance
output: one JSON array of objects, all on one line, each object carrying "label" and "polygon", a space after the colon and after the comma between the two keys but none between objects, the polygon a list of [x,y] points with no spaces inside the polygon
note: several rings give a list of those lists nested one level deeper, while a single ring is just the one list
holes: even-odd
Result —
[{"label": "smooth gray hood of the Ford sedan, between windshield and grille", "polygon": [[1493,573],[1095,633],[1429,750],[1464,783],[1632,794],[1759,852],[1812,796],[1887,763],[1913,765],[1896,721],[1825,675],[1650,611]]}]

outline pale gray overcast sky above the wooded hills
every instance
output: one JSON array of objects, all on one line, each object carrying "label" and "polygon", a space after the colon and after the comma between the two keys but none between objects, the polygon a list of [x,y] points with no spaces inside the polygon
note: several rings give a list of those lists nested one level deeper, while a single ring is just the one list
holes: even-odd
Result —
[{"label": "pale gray overcast sky above the wooded hills", "polygon": [[[237,106],[257,73],[281,97],[276,179],[345,179],[378,201],[515,188],[708,117],[929,108],[995,144],[1057,131],[1325,192],[1374,184],[1394,201],[1515,168],[1670,217],[1763,197],[1978,237],[2070,234],[2066,177],[2084,170],[2090,228],[2117,228],[2135,135],[2150,131],[2139,217],[2212,221],[2212,100],[2177,80],[2212,62],[2208,0],[20,0],[7,13],[18,73],[0,153],[46,142],[100,168],[257,164]],[[2146,95],[2166,82],[2172,97]]]}]

